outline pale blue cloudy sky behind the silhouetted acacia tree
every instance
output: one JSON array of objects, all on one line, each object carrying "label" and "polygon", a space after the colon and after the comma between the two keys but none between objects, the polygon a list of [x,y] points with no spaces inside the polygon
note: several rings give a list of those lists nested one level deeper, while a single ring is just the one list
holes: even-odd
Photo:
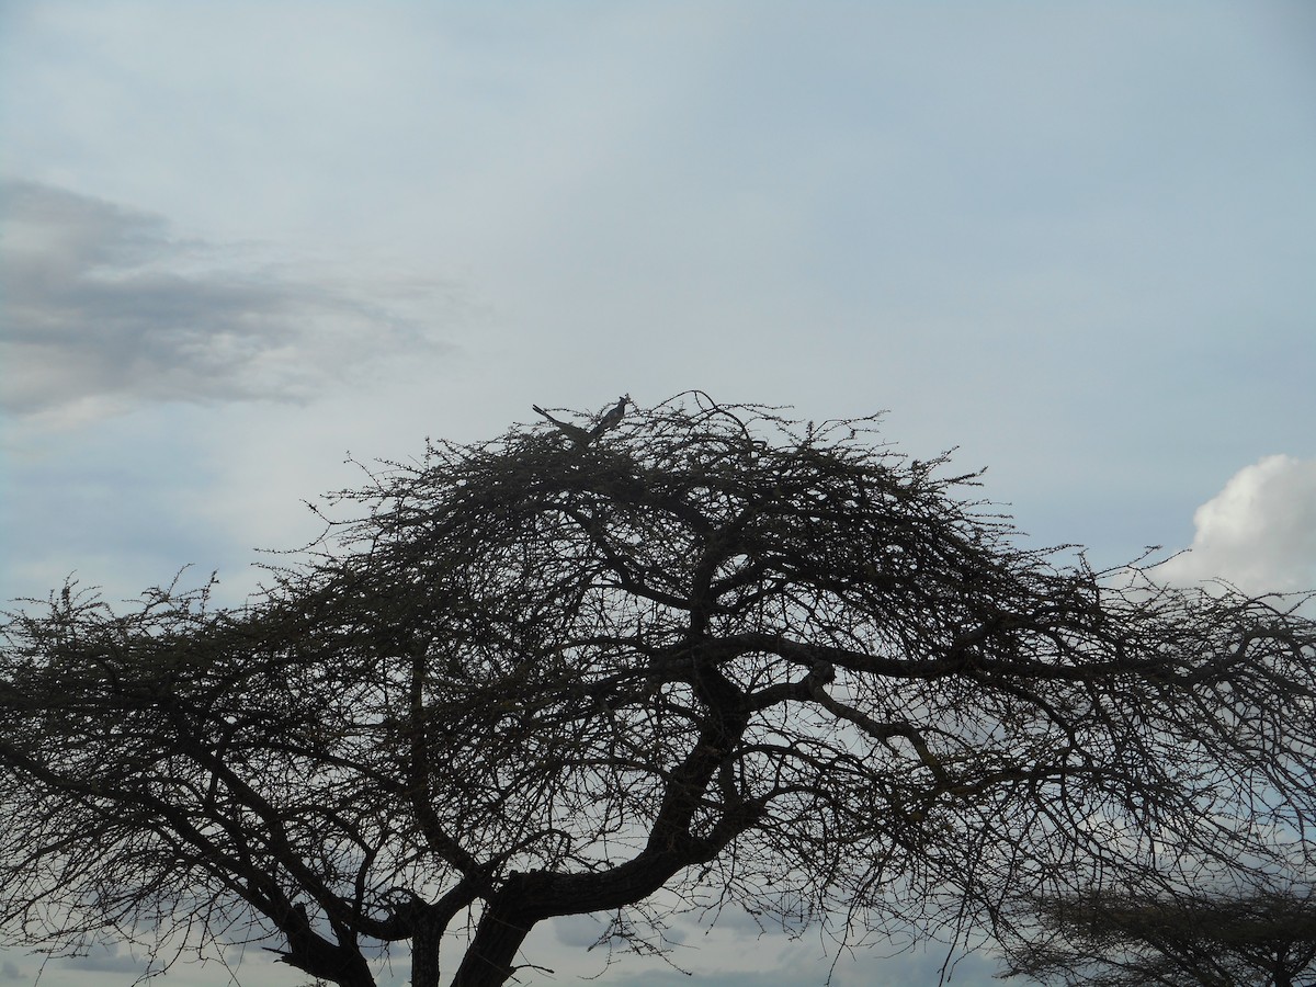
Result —
[{"label": "pale blue cloudy sky behind the silhouetted acacia tree", "polygon": [[[1313,108],[1300,0],[4,0],[0,597],[241,601],[349,455],[688,388],[886,411],[1033,546],[1316,586]],[[695,983],[825,969],[734,938]]]}]

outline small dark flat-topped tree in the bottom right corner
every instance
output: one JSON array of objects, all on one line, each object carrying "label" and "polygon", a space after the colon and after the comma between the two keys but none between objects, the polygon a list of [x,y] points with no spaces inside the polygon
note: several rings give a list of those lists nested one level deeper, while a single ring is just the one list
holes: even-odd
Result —
[{"label": "small dark flat-topped tree in the bottom right corner", "polygon": [[1316,983],[1311,888],[1105,890],[1033,903],[1009,975],[1078,987]]}]

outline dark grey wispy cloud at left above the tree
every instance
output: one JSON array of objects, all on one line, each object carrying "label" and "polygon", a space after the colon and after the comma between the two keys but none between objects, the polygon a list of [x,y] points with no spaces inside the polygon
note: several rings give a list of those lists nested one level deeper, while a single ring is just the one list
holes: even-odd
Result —
[{"label": "dark grey wispy cloud at left above the tree", "polygon": [[[0,182],[0,408],[145,401],[305,403],[380,361],[441,350],[399,301],[325,275],[224,262],[163,217],[51,186]],[[230,251],[232,253],[232,251]]]}]

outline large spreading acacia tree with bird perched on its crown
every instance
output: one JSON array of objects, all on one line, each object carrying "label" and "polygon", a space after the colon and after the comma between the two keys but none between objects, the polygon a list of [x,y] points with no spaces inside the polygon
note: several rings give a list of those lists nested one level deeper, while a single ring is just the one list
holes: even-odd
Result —
[{"label": "large spreading acacia tree with bird perched on its crown", "polygon": [[962,936],[1079,863],[1312,821],[1316,629],[1274,600],[1019,547],[871,420],[612,425],[384,465],[238,609],[12,616],[0,926],[272,941],[342,987],[405,944],[415,987],[441,951],[478,987],[554,916],[661,950],[663,888]]}]

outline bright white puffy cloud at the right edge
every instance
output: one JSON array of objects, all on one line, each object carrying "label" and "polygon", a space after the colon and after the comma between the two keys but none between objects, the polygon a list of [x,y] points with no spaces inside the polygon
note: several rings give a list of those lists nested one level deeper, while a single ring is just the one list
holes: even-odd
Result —
[{"label": "bright white puffy cloud at the right edge", "polygon": [[1220,578],[1254,594],[1316,588],[1316,459],[1245,466],[1192,520],[1192,549],[1166,562],[1163,578]]}]

